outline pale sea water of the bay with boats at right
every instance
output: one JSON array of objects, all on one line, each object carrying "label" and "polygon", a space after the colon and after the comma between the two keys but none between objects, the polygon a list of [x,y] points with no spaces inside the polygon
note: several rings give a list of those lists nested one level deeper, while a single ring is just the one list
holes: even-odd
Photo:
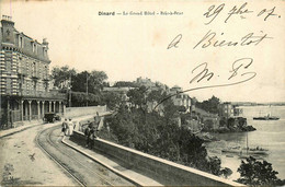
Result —
[{"label": "pale sea water of the bay with boats at right", "polygon": [[[221,166],[229,167],[233,172],[229,177],[240,177],[237,172],[241,164],[238,154],[221,153],[221,149],[230,147],[264,148],[269,150],[265,156],[259,156],[260,161],[265,160],[272,163],[273,170],[278,172],[278,177],[285,179],[285,106],[243,106],[242,117],[248,119],[248,125],[256,128],[251,132],[214,133],[220,141],[206,143],[209,155],[217,155],[221,159]],[[280,120],[253,120],[253,117],[266,116],[280,117]]]}]

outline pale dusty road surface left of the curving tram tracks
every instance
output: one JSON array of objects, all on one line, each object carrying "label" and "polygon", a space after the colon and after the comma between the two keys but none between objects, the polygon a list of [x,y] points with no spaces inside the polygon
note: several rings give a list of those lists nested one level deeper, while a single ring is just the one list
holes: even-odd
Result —
[{"label": "pale dusty road surface left of the curving tram tracks", "polygon": [[36,135],[58,124],[35,126],[0,139],[0,185],[1,186],[76,186],[36,145]]}]

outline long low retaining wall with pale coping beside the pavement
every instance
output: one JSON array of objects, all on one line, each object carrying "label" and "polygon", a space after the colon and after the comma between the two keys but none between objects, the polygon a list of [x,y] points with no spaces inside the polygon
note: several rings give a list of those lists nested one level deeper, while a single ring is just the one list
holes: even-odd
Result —
[{"label": "long low retaining wall with pale coping beside the pavement", "polygon": [[[70,140],[86,141],[84,135],[75,131]],[[198,170],[176,164],[140,151],[136,151],[102,139],[94,140],[94,149],[127,164],[129,168],[141,173],[168,186],[242,186]]]}]

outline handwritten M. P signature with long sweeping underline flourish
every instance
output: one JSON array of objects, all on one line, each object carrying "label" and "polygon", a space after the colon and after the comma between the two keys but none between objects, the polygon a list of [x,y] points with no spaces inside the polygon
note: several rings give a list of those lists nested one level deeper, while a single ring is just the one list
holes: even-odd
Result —
[{"label": "handwritten M. P signature with long sweeping underline flourish", "polygon": [[[227,79],[227,81],[229,81],[229,82],[224,83],[224,84],[196,86],[196,87],[189,89],[185,91],[180,91],[175,94],[169,95],[166,98],[161,100],[153,109],[156,109],[160,104],[162,104],[167,100],[171,98],[172,96],[180,95],[182,93],[202,90],[202,89],[225,87],[225,86],[231,86],[231,85],[237,85],[237,84],[248,82],[256,75],[256,72],[248,71],[248,69],[251,67],[252,63],[253,63],[253,58],[237,59],[231,65],[231,69],[229,71],[229,75]],[[191,79],[190,84],[200,83],[202,81],[209,82],[216,75],[216,73],[214,73],[213,71],[209,71],[207,66],[208,66],[207,62],[203,62],[192,70],[192,74],[194,74],[194,78]],[[216,77],[219,77],[219,75],[216,75]]]}]

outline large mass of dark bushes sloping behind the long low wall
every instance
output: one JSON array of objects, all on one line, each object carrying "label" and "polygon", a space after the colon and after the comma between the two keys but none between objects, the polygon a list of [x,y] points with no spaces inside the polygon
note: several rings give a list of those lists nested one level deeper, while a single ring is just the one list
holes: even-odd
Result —
[{"label": "large mass of dark bushes sloping behind the long low wall", "polygon": [[[139,106],[144,100],[134,98],[144,95],[141,94],[142,90],[135,91],[129,94],[129,96],[133,96],[130,101]],[[157,94],[153,93],[153,95]],[[146,100],[151,101],[151,98]],[[163,108],[164,116],[160,116],[155,110],[145,113],[139,107],[128,109],[121,105],[118,113],[106,120],[110,125],[110,131],[113,133],[113,139],[117,140],[119,144],[215,175],[221,175],[220,160],[207,155],[203,145],[204,141],[171,120],[178,112],[172,101],[163,102]]]}]

